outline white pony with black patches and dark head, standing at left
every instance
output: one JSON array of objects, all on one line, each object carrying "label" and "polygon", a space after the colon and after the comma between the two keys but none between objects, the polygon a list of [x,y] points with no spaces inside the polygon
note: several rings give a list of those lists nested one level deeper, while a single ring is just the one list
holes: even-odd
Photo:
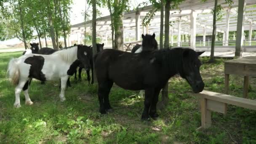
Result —
[{"label": "white pony with black patches and dark head, standing at left", "polygon": [[21,107],[21,90],[24,91],[25,104],[33,104],[28,93],[32,78],[41,81],[61,79],[61,93],[59,97],[61,101],[64,101],[67,79],[70,75],[74,74],[73,69],[78,66],[78,60],[84,65],[88,61],[87,53],[80,45],[56,51],[51,55],[30,53],[11,59],[7,71],[10,81],[16,85],[14,107]]}]

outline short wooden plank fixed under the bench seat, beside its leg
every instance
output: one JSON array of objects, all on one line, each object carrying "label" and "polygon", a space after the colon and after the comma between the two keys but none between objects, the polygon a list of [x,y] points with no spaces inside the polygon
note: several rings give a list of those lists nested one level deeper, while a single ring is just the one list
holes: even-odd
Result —
[{"label": "short wooden plank fixed under the bench seat, beside its leg", "polygon": [[207,100],[207,109],[213,112],[220,112],[222,114],[227,114],[227,104],[219,101],[213,101],[211,99]]}]

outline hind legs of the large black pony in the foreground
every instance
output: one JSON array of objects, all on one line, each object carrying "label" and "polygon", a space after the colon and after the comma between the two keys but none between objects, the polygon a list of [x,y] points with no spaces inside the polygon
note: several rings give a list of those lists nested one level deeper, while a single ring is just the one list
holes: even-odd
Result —
[{"label": "hind legs of the large black pony in the foreground", "polygon": [[111,109],[109,104],[109,92],[112,88],[113,82],[104,81],[99,83],[98,87],[98,97],[99,97],[99,112],[101,114],[106,114],[106,110]]}]

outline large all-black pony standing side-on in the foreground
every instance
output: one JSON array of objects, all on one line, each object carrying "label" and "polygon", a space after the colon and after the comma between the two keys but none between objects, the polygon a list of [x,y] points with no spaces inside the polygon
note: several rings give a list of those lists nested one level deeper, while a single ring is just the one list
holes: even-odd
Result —
[{"label": "large all-black pony standing side-on in the foreground", "polygon": [[169,78],[179,74],[187,80],[195,93],[203,91],[200,75],[203,52],[189,48],[162,49],[128,53],[105,49],[95,56],[95,70],[98,80],[99,112],[105,114],[111,109],[109,92],[113,83],[128,90],[145,90],[144,111],[141,120],[158,117],[156,105],[160,90]]}]

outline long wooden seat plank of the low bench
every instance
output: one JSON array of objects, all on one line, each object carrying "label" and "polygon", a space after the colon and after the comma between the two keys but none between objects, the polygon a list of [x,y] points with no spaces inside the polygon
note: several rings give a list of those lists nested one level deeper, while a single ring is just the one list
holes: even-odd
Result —
[{"label": "long wooden seat plank of the low bench", "polygon": [[230,96],[222,93],[215,93],[212,91],[202,91],[201,93],[196,93],[195,95],[199,96],[200,98],[211,99],[213,101],[219,101],[238,107],[256,110],[256,101],[251,99],[244,99],[237,96]]}]

